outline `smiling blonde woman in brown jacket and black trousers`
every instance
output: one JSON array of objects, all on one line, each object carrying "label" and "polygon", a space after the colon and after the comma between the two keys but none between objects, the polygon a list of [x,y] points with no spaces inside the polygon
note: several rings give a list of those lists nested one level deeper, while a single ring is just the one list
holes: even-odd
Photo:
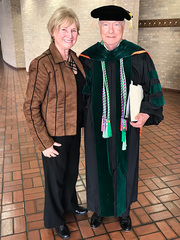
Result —
[{"label": "smiling blonde woman in brown jacket and black trousers", "polygon": [[30,64],[24,114],[30,133],[42,152],[45,174],[44,223],[67,239],[65,213],[85,214],[78,206],[78,176],[83,124],[83,67],[71,50],[79,20],[72,9],[57,9],[48,22],[52,42]]}]

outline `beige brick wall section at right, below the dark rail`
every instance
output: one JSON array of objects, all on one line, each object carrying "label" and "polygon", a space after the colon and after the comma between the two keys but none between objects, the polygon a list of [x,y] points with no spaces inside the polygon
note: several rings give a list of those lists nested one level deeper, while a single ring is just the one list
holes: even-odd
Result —
[{"label": "beige brick wall section at right, below the dark rail", "polygon": [[180,29],[140,28],[139,44],[153,58],[162,87],[180,89]]}]

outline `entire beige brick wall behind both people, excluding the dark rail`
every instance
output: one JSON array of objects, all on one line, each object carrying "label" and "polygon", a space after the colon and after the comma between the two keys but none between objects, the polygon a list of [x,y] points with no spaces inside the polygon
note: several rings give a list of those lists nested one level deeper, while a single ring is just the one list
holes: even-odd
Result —
[{"label": "entire beige brick wall behind both people, excluding the dark rail", "polygon": [[149,51],[162,87],[180,89],[180,28],[138,29],[139,19],[179,18],[179,0],[2,0],[3,59],[28,71],[31,60],[48,48],[50,36],[46,25],[54,10],[62,5],[71,7],[80,19],[80,36],[73,48],[79,54],[100,40],[97,20],[90,17],[90,11],[106,4],[120,5],[133,13],[133,28],[129,30],[129,22],[126,23],[124,38]]}]

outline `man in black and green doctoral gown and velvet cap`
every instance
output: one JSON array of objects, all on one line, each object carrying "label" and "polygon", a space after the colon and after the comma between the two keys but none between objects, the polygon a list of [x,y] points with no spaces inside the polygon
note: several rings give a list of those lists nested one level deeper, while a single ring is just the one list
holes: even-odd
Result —
[{"label": "man in black and green doctoral gown and velvet cap", "polygon": [[[94,9],[91,16],[99,18],[102,41],[80,55],[87,80],[87,207],[94,212],[92,228],[102,217],[119,216],[122,229],[130,231],[130,206],[138,192],[140,128],[162,121],[164,98],[149,54],[122,40],[124,19],[131,20],[132,15],[109,5]],[[124,118],[131,81],[144,92],[136,122]]]}]

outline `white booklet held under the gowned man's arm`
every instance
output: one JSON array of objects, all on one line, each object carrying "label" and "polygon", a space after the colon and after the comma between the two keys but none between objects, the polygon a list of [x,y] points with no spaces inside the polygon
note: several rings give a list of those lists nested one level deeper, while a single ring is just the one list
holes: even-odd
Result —
[{"label": "white booklet held under the gowned man's arm", "polygon": [[133,85],[133,82],[131,81],[129,86],[129,96],[127,100],[125,118],[129,118],[130,121],[137,121],[135,116],[140,112],[143,96],[142,86]]}]

